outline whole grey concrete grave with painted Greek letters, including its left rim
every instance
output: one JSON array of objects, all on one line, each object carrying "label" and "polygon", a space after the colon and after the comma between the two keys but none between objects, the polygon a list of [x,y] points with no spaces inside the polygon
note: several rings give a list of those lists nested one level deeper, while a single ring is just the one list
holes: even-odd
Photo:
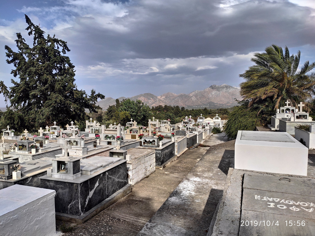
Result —
[{"label": "whole grey concrete grave with painted Greek letters, including its left rim", "polygon": [[314,187],[309,177],[230,168],[208,236],[315,235]]}]

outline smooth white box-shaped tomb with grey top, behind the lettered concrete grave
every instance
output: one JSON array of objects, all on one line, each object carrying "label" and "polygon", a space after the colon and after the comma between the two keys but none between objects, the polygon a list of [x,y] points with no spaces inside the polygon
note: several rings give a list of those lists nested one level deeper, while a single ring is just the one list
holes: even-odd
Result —
[{"label": "smooth white box-shaped tomb with grey top, behind the lettered concrete grave", "polygon": [[307,175],[308,149],[288,133],[238,131],[235,168]]}]

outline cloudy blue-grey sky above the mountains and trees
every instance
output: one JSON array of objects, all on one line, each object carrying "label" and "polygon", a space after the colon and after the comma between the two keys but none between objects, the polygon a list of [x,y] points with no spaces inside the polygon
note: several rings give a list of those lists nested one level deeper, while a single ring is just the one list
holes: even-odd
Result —
[{"label": "cloudy blue-grey sky above the mountains and trees", "polygon": [[[25,16],[71,50],[78,89],[105,97],[190,93],[213,84],[238,87],[255,52],[267,46],[301,51],[315,61],[313,0],[11,0],[0,2],[0,80],[12,86]],[[4,107],[0,95],[0,107]]]}]

